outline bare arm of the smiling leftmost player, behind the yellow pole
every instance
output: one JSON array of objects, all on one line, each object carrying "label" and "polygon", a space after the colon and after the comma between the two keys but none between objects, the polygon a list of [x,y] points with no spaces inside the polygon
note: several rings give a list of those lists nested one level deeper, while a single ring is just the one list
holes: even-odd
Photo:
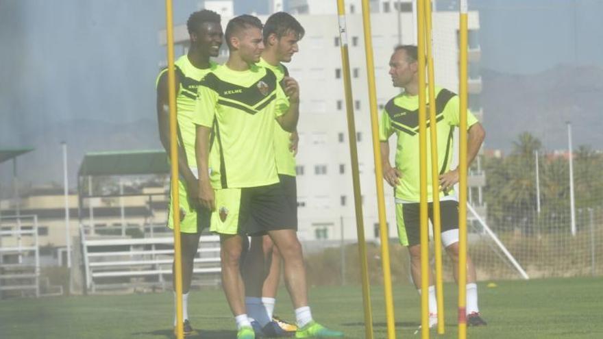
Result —
[{"label": "bare arm of the smiling leftmost player, behind the yellow pole", "polygon": [[[180,87],[180,77],[175,74],[176,93]],[[159,138],[161,145],[170,155],[170,130],[169,130],[169,84],[167,71],[163,72],[159,77],[157,84],[157,121],[159,126]],[[184,147],[177,144],[178,151],[178,173],[182,175],[184,181],[186,181],[187,195],[190,197],[191,202],[195,203],[195,197],[197,197],[197,178],[190,171],[188,167],[188,161],[186,160],[186,153]]]}]

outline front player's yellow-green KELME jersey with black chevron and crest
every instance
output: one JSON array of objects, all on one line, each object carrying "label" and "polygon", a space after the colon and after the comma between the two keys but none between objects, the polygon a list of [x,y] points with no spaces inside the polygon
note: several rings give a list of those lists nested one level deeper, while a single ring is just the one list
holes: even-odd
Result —
[{"label": "front player's yellow-green KELME jersey with black chevron and crest", "polygon": [[193,123],[213,129],[210,179],[215,189],[278,182],[274,120],[288,110],[276,75],[252,65],[247,71],[219,66],[198,91]]}]

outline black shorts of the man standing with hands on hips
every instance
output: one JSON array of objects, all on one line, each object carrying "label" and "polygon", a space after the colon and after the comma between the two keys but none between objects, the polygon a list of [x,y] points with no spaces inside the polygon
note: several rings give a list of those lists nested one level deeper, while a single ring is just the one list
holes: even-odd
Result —
[{"label": "black shorts of the man standing with hands on hips", "polygon": [[[421,208],[419,203],[396,204],[397,227],[400,243],[414,246],[421,243]],[[400,207],[400,205],[402,205]],[[433,203],[428,203],[429,220],[433,223]],[[458,202],[440,201],[441,231],[458,229]]]}]

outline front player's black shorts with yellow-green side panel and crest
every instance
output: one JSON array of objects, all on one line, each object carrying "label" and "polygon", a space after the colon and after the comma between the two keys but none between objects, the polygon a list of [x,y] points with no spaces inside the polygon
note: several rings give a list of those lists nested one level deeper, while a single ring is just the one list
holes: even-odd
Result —
[{"label": "front player's black shorts with yellow-green side panel and crest", "polygon": [[210,231],[217,234],[261,236],[279,229],[297,230],[297,214],[278,184],[214,191],[216,210]]}]

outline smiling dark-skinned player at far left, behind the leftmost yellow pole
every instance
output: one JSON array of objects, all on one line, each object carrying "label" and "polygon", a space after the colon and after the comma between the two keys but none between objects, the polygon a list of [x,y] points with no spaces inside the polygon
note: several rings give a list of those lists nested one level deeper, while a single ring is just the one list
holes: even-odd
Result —
[{"label": "smiling dark-skinned player at far left, behind the leftmost yellow pole", "polygon": [[[186,22],[190,36],[190,49],[175,62],[178,168],[180,172],[180,240],[182,242],[182,308],[184,334],[192,334],[188,320],[188,292],[193,279],[193,260],[199,246],[199,236],[204,227],[209,227],[211,211],[201,208],[199,184],[197,182],[197,160],[195,158],[195,124],[191,120],[199,81],[216,68],[210,57],[217,57],[222,45],[220,15],[210,10],[194,12]],[[169,154],[169,89],[167,68],[157,79],[157,116],[159,135],[164,149]],[[171,195],[170,195],[171,199]],[[173,229],[173,213],[170,200],[168,227]],[[173,271],[174,267],[172,267]],[[175,293],[174,293],[175,298]],[[176,319],[174,316],[174,326]]]}]

